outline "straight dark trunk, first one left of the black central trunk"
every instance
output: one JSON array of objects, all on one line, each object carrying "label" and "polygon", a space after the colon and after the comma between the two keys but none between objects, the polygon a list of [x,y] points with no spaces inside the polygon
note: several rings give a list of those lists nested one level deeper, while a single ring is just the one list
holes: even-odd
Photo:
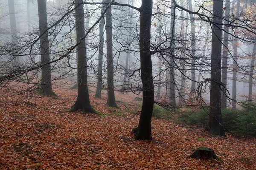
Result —
[{"label": "straight dark trunk, first one left of the black central trunk", "polygon": [[[110,3],[107,0],[107,3]],[[112,42],[112,14],[111,6],[106,11],[106,39],[107,39],[107,67],[108,67],[108,101],[107,105],[117,107],[114,92],[114,69],[113,69],[113,42]]]}]

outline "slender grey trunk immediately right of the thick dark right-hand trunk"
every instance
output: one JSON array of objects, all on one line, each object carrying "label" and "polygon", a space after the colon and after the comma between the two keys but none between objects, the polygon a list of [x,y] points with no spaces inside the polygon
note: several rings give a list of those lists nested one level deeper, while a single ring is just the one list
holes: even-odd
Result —
[{"label": "slender grey trunk immediately right of the thick dark right-hand trunk", "polygon": [[[226,1],[226,11],[224,16],[224,23],[227,24],[229,20],[230,15],[230,0]],[[221,76],[221,82],[227,88],[227,56],[228,56],[228,31],[229,28],[227,26],[224,26],[224,38],[223,38],[223,58],[222,58],[222,76]],[[227,90],[225,88],[222,88],[221,91],[221,108],[226,109],[227,108]]]}]

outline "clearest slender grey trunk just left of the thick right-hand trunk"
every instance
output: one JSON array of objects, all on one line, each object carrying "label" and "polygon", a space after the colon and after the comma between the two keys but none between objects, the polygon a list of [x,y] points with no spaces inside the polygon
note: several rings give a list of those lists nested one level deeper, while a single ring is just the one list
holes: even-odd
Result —
[{"label": "clearest slender grey trunk just left of the thick right-hand trunk", "polygon": [[[189,0],[189,10],[193,11],[192,8],[192,0]],[[190,90],[190,94],[189,94],[189,101],[192,102],[194,100],[195,97],[195,18],[194,18],[194,14],[189,14],[190,16],[190,20],[191,20],[191,37],[192,37],[192,41],[191,41],[191,48],[192,48],[192,53],[191,53],[191,90]]]}]

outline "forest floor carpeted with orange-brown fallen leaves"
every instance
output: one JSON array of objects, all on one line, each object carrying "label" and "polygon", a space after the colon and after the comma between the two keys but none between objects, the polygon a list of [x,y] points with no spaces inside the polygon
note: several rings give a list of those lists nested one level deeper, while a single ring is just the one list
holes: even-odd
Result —
[{"label": "forest floor carpeted with orange-brown fallen leaves", "polygon": [[[152,119],[153,141],[136,141],[131,130],[140,110],[134,94],[116,92],[119,108],[105,105],[107,94],[93,107],[105,116],[67,110],[77,90],[56,92],[58,98],[32,98],[17,105],[0,98],[0,169],[64,170],[245,170],[256,169],[256,139],[210,137],[204,128],[182,127],[175,121]],[[223,161],[188,158],[200,146],[215,150]]]}]

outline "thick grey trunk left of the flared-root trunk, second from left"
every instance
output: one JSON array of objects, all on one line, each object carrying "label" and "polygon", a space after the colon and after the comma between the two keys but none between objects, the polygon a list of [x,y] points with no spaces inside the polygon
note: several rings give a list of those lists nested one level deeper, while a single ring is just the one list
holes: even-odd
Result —
[{"label": "thick grey trunk left of the flared-root trunk, second from left", "polygon": [[[49,40],[47,30],[47,11],[46,11],[46,0],[38,0],[38,17],[39,17],[39,31],[40,31],[40,51],[41,51],[41,64],[50,62],[49,54]],[[41,91],[44,95],[54,94],[52,91],[52,80],[51,80],[51,65],[47,64],[42,66],[42,77],[41,77]]]}]

